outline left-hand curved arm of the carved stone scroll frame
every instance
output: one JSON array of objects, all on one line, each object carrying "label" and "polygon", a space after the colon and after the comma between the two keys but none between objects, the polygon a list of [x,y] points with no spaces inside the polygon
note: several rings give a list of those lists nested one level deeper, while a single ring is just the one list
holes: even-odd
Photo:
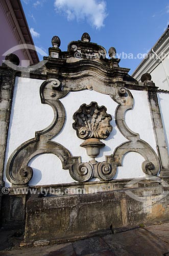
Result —
[{"label": "left-hand curved arm of the carved stone scroll frame", "polygon": [[[13,185],[27,185],[33,176],[33,170],[28,166],[29,161],[36,155],[43,153],[55,154],[62,162],[63,169],[69,169],[70,175],[74,177],[74,166],[79,165],[80,157],[71,156],[70,152],[62,145],[51,141],[61,130],[65,122],[65,110],[60,98],[68,92],[61,91],[58,79],[48,79],[40,87],[40,97],[43,104],[49,104],[54,111],[53,122],[42,131],[35,133],[35,138],[21,144],[10,156],[6,175]],[[85,175],[84,172],[82,172]]]}]

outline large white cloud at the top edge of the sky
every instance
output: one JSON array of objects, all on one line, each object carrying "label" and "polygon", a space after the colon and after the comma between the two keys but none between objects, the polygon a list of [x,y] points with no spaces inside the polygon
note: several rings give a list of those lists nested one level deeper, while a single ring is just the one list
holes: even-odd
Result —
[{"label": "large white cloud at the top edge of the sky", "polygon": [[54,6],[55,10],[64,13],[68,20],[86,19],[96,29],[104,26],[107,17],[104,0],[55,0]]}]

